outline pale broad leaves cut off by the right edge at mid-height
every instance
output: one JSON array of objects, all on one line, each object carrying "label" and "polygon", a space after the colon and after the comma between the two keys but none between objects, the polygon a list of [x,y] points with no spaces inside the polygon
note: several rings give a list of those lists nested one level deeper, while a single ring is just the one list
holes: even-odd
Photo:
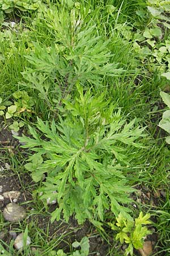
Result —
[{"label": "pale broad leaves cut off by the right edge at mid-height", "polygon": [[[159,127],[170,134],[170,96],[168,93],[160,92],[164,104],[168,106],[168,110],[163,113],[162,120],[159,122]],[[170,136],[166,137],[166,142],[170,144]]]}]

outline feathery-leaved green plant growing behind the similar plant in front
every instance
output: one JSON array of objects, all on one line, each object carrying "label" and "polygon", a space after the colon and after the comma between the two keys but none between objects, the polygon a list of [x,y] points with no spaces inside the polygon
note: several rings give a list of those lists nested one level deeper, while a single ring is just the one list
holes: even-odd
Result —
[{"label": "feathery-leaved green plant growing behind the similar plant in front", "polygon": [[[61,2],[71,4],[72,1]],[[25,56],[31,68],[22,72],[24,81],[20,84],[38,92],[50,110],[56,104],[56,109],[61,106],[61,101],[74,90],[76,82],[99,87],[104,77],[117,77],[125,72],[119,63],[111,61],[110,40],[103,40],[96,24],[92,20],[84,23],[81,15],[77,8],[42,6],[41,19],[57,40],[49,47],[33,43],[33,51]]]}]

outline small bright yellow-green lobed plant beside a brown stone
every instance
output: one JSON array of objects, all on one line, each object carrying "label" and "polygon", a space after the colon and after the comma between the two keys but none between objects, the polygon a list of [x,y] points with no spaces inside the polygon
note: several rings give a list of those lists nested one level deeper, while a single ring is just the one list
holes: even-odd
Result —
[{"label": "small bright yellow-green lobed plant beside a brown stone", "polygon": [[120,240],[121,243],[128,243],[128,248],[125,251],[125,255],[133,256],[133,248],[140,249],[143,247],[143,240],[148,235],[151,234],[150,230],[147,229],[147,224],[151,224],[150,214],[143,216],[141,212],[135,221],[130,221],[123,217],[120,213],[116,218],[116,224],[110,223],[112,230],[117,232],[116,240]]}]

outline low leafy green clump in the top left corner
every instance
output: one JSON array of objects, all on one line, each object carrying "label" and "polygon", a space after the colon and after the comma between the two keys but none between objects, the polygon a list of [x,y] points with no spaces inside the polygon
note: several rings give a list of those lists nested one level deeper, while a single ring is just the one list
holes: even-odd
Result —
[{"label": "low leafy green clump in the top left corner", "polygon": [[41,0],[0,0],[0,10],[5,13],[11,13],[14,9],[36,10],[41,4]]}]

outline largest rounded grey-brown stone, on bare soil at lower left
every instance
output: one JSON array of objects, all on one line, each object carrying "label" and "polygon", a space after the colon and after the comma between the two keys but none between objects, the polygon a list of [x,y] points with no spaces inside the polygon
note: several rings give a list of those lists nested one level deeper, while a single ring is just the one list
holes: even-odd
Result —
[{"label": "largest rounded grey-brown stone, on bare soil at lower left", "polygon": [[10,222],[22,221],[26,216],[25,209],[15,203],[7,204],[3,209],[3,217]]}]

